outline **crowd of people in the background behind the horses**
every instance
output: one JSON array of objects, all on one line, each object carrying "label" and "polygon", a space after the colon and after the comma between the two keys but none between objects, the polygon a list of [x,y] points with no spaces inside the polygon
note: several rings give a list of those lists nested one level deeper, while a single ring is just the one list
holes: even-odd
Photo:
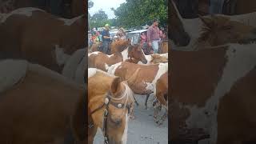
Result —
[{"label": "crowd of people in the background behind the horses", "polygon": [[[145,32],[140,34],[140,45],[145,54],[157,54],[160,43],[166,39],[166,29],[158,27],[159,20],[154,19],[153,24],[147,28]],[[93,29],[96,31],[96,29]],[[114,36],[118,40],[125,40],[127,38],[126,31],[120,27],[118,33]],[[102,52],[104,54],[109,53],[110,42],[113,38],[110,36],[110,25],[106,24],[101,34],[96,31],[95,34],[89,38],[89,46],[92,46],[94,42],[102,42]]]}]

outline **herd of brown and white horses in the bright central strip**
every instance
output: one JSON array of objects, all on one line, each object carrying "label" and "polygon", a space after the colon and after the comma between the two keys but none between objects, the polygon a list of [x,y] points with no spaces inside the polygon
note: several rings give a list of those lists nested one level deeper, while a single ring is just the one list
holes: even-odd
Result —
[{"label": "herd of brown and white horses in the bright central strip", "polygon": [[[138,104],[134,94],[146,95],[146,108],[154,94],[159,100],[155,102],[155,122],[161,125],[167,117],[168,53],[146,55],[130,39],[115,41],[110,48],[111,55],[100,51],[88,54],[89,143],[98,127],[105,142],[126,143],[128,120],[134,118],[134,103]],[[162,106],[166,112],[159,116]]]}]

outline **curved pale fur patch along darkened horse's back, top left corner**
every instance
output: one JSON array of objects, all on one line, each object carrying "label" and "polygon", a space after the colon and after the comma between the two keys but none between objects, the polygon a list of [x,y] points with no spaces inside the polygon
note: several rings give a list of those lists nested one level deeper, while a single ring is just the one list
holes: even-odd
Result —
[{"label": "curved pale fur patch along darkened horse's back, top left corner", "polygon": [[10,12],[9,14],[3,15],[3,17],[1,18],[1,23],[6,22],[6,19],[9,18],[13,14],[19,14],[19,15],[25,15],[27,17],[31,17],[32,14],[33,14],[33,11],[44,11],[44,10],[34,8],[34,7],[19,8],[17,10],[14,10],[14,11]]}]

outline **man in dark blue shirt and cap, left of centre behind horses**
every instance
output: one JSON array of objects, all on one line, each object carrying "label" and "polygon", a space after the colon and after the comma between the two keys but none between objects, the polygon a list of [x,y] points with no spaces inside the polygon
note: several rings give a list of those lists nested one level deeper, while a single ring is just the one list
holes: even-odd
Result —
[{"label": "man in dark blue shirt and cap, left of centre behind horses", "polygon": [[104,54],[108,54],[110,39],[110,25],[106,24],[105,29],[102,30],[102,52]]}]

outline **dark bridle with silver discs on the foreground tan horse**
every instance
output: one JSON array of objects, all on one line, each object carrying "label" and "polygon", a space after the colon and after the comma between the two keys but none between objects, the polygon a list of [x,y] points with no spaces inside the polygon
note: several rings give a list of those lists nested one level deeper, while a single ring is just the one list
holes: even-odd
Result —
[{"label": "dark bridle with silver discs on the foreground tan horse", "polygon": [[[96,111],[101,110],[105,106],[105,109],[104,109],[104,112],[103,112],[103,126],[102,126],[103,127],[102,132],[103,132],[103,136],[104,136],[104,144],[109,143],[108,134],[106,133],[106,129],[107,129],[107,123],[106,122],[107,122],[107,117],[108,117],[108,114],[109,114],[109,105],[112,105],[112,106],[114,106],[118,109],[127,108],[128,109],[128,114],[130,114],[130,109],[131,109],[131,106],[132,106],[132,104],[127,104],[127,103],[123,104],[123,103],[119,103],[119,102],[113,102],[113,101],[111,101],[111,99],[121,100],[120,98],[113,98],[111,96],[110,91],[108,91],[108,93],[106,94],[106,97],[105,97],[105,102],[102,104],[102,106],[98,106],[97,109],[93,110],[90,113],[90,115],[92,115]],[[89,128],[92,128],[92,127],[94,127],[94,122],[89,122]]]}]

